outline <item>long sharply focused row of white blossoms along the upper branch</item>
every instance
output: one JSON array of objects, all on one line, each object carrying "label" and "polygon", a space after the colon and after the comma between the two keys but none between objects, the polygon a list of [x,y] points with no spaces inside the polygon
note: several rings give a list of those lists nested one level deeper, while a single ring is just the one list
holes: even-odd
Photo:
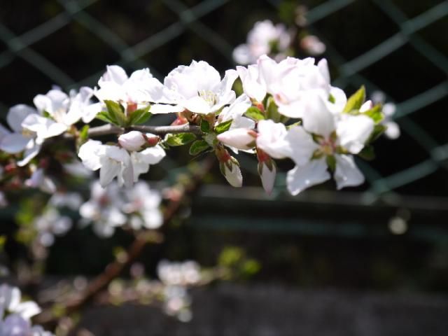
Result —
[{"label": "long sharply focused row of white blossoms along the upper branch", "polygon": [[[237,80],[239,94],[234,90]],[[120,66],[107,66],[97,87],[69,94],[56,87],[36,96],[34,105],[10,109],[11,130],[1,128],[0,148],[15,155],[19,167],[30,165],[27,186],[49,192],[54,192],[54,183],[35,157],[44,141],[57,136],[76,138],[78,157],[87,169],[99,170],[102,188],[114,179],[118,186],[133,186],[168,148],[191,143],[191,155],[213,152],[225,179],[235,187],[242,185],[242,174],[228,148],[256,155],[267,193],[274,186],[275,160],[290,159],[295,167],[286,182],[289,192],[297,195],[331,174],[338,189],[363,183],[353,155],[371,156],[370,143],[386,129],[381,105],[365,102],[363,87],[347,99],[330,84],[327,61],[311,57],[276,61],[261,55],[255,64],[229,69],[223,77],[207,62],[193,61],[169,72],[163,83],[149,69],[127,76]],[[176,116],[169,130],[183,125],[186,131],[168,130],[160,137],[139,126],[159,113]],[[81,121],[88,124],[94,118],[111,126],[115,141],[90,139],[95,127],[78,129]],[[101,202],[95,199],[102,197],[92,194],[93,203]],[[84,205],[81,214],[97,216],[87,208]],[[113,217],[121,222],[120,216]]]}]

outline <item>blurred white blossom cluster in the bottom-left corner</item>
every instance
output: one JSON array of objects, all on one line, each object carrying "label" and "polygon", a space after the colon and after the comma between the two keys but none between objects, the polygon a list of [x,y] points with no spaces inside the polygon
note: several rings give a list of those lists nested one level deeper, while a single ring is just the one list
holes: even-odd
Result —
[{"label": "blurred white blossom cluster in the bottom-left corner", "polygon": [[52,336],[40,325],[31,325],[31,317],[41,309],[36,302],[21,302],[22,294],[17,287],[0,286],[0,335],[2,336]]}]

